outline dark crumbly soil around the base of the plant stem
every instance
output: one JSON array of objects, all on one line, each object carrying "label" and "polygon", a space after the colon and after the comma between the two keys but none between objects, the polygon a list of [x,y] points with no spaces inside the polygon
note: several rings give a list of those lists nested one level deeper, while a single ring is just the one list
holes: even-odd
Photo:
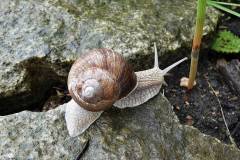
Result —
[{"label": "dark crumbly soil around the base of the plant stem", "polygon": [[240,146],[240,98],[218,71],[217,59],[214,55],[201,55],[197,85],[191,91],[179,85],[180,79],[189,73],[189,63],[181,64],[165,78],[168,86],[164,87],[164,94],[182,124],[193,125],[201,132],[229,143],[222,107],[231,135]]}]

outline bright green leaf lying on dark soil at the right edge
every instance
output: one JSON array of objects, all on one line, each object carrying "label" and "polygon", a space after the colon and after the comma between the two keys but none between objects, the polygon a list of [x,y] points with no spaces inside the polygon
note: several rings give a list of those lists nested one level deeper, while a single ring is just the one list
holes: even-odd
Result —
[{"label": "bright green leaf lying on dark soil at the right edge", "polygon": [[211,49],[222,53],[240,54],[240,38],[230,31],[220,31],[218,32]]}]

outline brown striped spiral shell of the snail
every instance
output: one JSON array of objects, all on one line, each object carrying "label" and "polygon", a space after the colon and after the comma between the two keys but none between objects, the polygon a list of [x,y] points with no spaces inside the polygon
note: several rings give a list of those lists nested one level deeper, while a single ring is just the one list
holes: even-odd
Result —
[{"label": "brown striped spiral shell of the snail", "polygon": [[79,57],[68,75],[68,90],[88,111],[102,111],[136,86],[136,75],[124,58],[111,49],[94,49]]}]

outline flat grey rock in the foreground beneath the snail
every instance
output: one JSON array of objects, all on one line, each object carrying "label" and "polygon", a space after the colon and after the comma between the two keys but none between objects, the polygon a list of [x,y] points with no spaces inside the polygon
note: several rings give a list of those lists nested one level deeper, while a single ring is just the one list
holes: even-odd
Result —
[{"label": "flat grey rock in the foreground beneath the snail", "polygon": [[136,108],[105,111],[83,135],[68,136],[64,107],[0,117],[0,159],[238,160],[240,151],[181,125],[159,94]]}]

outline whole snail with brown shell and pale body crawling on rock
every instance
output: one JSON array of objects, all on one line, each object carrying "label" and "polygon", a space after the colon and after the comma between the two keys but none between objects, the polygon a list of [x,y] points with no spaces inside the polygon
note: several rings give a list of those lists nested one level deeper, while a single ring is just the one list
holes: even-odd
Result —
[{"label": "whole snail with brown shell and pale body crawling on rock", "polygon": [[82,134],[111,106],[136,107],[148,101],[166,84],[164,75],[187,59],[161,70],[155,43],[154,49],[154,67],[139,72],[134,72],[123,56],[111,49],[93,49],[75,61],[68,75],[72,100],[65,110],[70,136]]}]

